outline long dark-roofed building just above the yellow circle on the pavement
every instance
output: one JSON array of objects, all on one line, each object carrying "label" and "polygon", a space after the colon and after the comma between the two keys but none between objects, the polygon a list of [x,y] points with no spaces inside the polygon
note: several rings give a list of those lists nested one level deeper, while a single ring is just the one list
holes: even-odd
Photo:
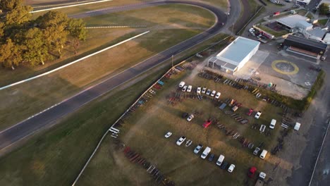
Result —
[{"label": "long dark-roofed building just above the yellow circle on the pavement", "polygon": [[317,42],[295,35],[288,35],[288,37],[284,40],[283,45],[288,51],[312,58],[319,58],[323,56],[326,53],[328,47],[328,45],[322,42]]}]

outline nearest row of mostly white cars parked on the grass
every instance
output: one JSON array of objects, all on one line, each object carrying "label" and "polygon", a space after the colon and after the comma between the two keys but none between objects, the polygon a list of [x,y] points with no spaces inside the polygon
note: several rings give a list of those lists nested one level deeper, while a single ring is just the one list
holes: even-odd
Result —
[{"label": "nearest row of mostly white cars parked on the grass", "polygon": [[[168,132],[169,133],[169,132]],[[167,135],[168,133],[166,133],[165,137],[169,137],[169,135]],[[171,133],[172,134],[172,133]],[[170,135],[171,136],[171,135]],[[181,136],[178,140],[176,140],[176,145],[181,146],[181,144],[185,141],[186,137],[185,136]],[[198,144],[197,147],[195,147],[194,149],[194,153],[195,154],[199,154],[200,151],[202,151],[203,145],[202,144]],[[207,156],[209,155],[209,153],[211,152],[211,148],[210,147],[206,147],[204,149],[204,151],[202,152],[202,154],[200,155],[200,157],[202,159],[206,159]],[[215,158],[215,154],[210,154],[209,155],[209,161],[213,161]],[[226,169],[228,167],[228,162],[224,161],[225,156],[224,155],[220,155],[219,158],[216,161],[216,165],[220,166],[221,169]],[[232,173],[233,170],[235,169],[235,165],[231,164],[228,168],[227,171],[229,173]]]}]

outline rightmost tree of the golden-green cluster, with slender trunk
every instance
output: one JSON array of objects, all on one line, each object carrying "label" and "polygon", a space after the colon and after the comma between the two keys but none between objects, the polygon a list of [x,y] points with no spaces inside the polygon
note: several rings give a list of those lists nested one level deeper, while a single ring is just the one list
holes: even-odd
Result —
[{"label": "rightmost tree of the golden-green cluster, with slender trunk", "polygon": [[71,35],[72,39],[69,41],[75,54],[78,53],[78,48],[80,46],[80,40],[85,41],[87,31],[85,28],[85,23],[82,19],[70,19],[68,22],[68,32]]}]

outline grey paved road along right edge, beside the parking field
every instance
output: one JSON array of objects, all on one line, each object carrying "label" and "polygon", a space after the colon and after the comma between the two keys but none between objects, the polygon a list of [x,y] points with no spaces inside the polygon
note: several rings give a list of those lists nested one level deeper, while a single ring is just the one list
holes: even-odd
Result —
[{"label": "grey paved road along right edge, beside the parking field", "polygon": [[[329,54],[330,55],[330,54]],[[329,60],[329,59],[328,59]],[[314,168],[319,149],[322,144],[324,133],[327,123],[330,118],[330,61],[322,62],[322,68],[326,72],[326,78],[324,79],[324,86],[315,97],[313,104],[305,113],[305,119],[312,120],[310,130],[306,134],[307,147],[302,151],[300,156],[301,167],[298,170],[293,171],[293,175],[287,179],[288,184],[295,186],[307,186],[309,185],[310,178],[312,176],[312,170]],[[310,119],[312,118],[312,119]],[[330,138],[328,131],[327,139]],[[330,139],[329,139],[330,140]],[[326,175],[326,170],[330,168],[330,141],[326,140],[324,143],[324,149],[322,150],[321,159],[317,163],[317,168],[312,180],[313,186],[325,186],[329,185],[330,176]]]}]

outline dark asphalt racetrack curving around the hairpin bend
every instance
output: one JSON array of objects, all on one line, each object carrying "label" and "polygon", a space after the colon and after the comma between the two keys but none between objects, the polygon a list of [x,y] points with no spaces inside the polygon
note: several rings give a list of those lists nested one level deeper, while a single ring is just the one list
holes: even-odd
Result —
[{"label": "dark asphalt racetrack curving around the hairpin bend", "polygon": [[[139,63],[137,66],[128,68],[127,70],[119,73],[114,77],[110,77],[108,80],[105,80],[99,85],[95,85],[92,88],[86,89],[84,92],[80,92],[80,94],[77,94],[75,97],[64,101],[62,104],[54,106],[52,109],[44,111],[34,118],[25,120],[22,123],[13,126],[12,128],[8,128],[7,130],[0,132],[0,151],[4,153],[4,151],[6,151],[6,147],[9,147],[19,140],[32,135],[37,130],[51,126],[52,124],[56,123],[56,120],[62,116],[65,116],[66,114],[79,109],[84,104],[87,104],[93,99],[100,97],[102,94],[111,91],[111,89],[121,85],[123,82],[128,82],[133,77],[144,73],[146,70],[157,66],[159,63],[163,63],[167,59],[171,58],[172,55],[176,55],[181,51],[188,49],[189,47],[202,42],[209,37],[212,37],[221,30],[221,27],[223,26],[222,23],[226,23],[227,16],[219,8],[196,1],[154,1],[145,4],[138,4],[136,6],[127,6],[126,8],[121,7],[119,9],[120,11],[126,11],[132,8],[158,6],[162,4],[190,4],[194,6],[200,6],[202,8],[207,8],[209,11],[212,11],[215,14],[217,20],[212,27],[210,27],[205,32],[202,32],[200,35],[177,44],[176,46],[173,46],[166,51],[162,51],[156,56],[153,56],[152,58]],[[108,13],[109,11],[116,11],[116,8],[103,9],[102,11],[93,11],[90,13],[82,14],[80,16],[94,16],[99,13]]]}]

